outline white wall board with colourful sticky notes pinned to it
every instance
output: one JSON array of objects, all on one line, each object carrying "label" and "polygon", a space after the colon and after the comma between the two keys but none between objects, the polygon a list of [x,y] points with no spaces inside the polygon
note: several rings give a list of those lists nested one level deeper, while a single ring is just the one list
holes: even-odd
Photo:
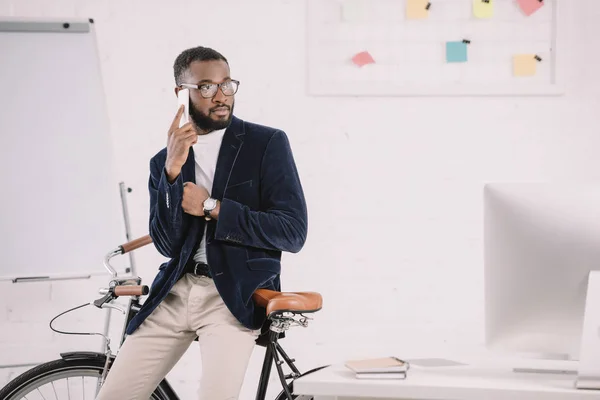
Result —
[{"label": "white wall board with colourful sticky notes pinned to it", "polygon": [[[527,16],[516,0],[431,0],[426,17],[411,0],[308,0],[308,92],[327,96],[563,94],[558,0]],[[418,0],[417,0],[418,1]],[[427,1],[427,0],[424,0]],[[447,62],[446,43],[470,42],[466,62]],[[367,51],[375,63],[357,66]],[[514,56],[538,55],[533,76],[515,76]]]}]

